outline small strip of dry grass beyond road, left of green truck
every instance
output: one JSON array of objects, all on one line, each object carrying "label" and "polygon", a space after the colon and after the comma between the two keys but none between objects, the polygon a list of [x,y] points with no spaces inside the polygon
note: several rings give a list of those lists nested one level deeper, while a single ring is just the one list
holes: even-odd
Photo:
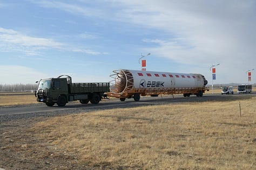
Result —
[{"label": "small strip of dry grass beyond road, left of green truck", "polygon": [[0,95],[0,105],[16,105],[37,103],[35,95]]}]

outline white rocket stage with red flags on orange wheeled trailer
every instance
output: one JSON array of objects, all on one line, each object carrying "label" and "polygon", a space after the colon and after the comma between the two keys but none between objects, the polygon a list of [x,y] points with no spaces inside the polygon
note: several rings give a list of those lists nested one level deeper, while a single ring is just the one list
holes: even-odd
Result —
[{"label": "white rocket stage with red flags on orange wheeled trailer", "polygon": [[208,87],[207,80],[201,74],[148,72],[142,70],[118,69],[113,70],[110,77],[112,89],[107,93],[110,97],[133,98],[139,101],[140,96],[158,96],[183,94],[184,97],[203,96]]}]

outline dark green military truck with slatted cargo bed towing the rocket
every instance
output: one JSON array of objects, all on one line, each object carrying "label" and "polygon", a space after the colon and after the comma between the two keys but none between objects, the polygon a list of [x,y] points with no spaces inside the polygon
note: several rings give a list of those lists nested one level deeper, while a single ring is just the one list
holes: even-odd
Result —
[{"label": "dark green military truck with slatted cargo bed towing the rocket", "polygon": [[[63,77],[65,76],[65,77]],[[55,103],[63,107],[66,103],[79,100],[82,104],[89,101],[97,104],[102,98],[107,98],[106,92],[110,91],[107,83],[72,83],[68,75],[60,75],[57,78],[41,79],[35,96],[38,102],[43,102],[49,107]]]}]

